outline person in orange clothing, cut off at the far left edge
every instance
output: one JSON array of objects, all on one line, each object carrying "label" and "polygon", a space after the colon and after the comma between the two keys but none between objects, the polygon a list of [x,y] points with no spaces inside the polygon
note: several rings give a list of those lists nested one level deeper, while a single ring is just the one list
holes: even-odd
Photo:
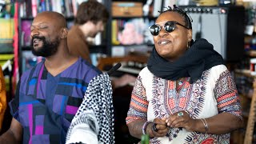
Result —
[{"label": "person in orange clothing, cut off at the far left edge", "polygon": [[2,67],[0,66],[0,131],[2,130],[2,122],[6,112],[6,82],[3,76]]}]

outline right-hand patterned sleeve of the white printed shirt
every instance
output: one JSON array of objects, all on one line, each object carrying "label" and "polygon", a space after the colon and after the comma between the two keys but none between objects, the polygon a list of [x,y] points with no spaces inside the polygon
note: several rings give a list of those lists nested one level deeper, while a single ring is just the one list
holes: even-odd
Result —
[{"label": "right-hand patterned sleeve of the white printed shirt", "polygon": [[218,113],[226,112],[242,119],[238,90],[229,70],[225,70],[220,74],[214,87],[214,95],[217,100]]}]

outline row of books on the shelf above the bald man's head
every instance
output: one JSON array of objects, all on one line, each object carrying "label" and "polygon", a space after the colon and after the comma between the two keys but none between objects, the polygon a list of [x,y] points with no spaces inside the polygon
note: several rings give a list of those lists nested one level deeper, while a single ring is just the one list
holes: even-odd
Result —
[{"label": "row of books on the shelf above the bald man's head", "polygon": [[[87,0],[24,0],[20,2],[19,16],[21,18],[35,17],[42,11],[56,11],[66,17],[74,17],[78,6]],[[102,0],[98,0],[102,2]]]}]

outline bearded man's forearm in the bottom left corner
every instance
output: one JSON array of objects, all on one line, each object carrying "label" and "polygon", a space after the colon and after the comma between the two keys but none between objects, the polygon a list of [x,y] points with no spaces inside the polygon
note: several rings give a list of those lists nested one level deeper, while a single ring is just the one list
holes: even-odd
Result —
[{"label": "bearded man's forearm in the bottom left corner", "polygon": [[17,143],[21,143],[21,142],[15,138],[14,133],[11,130],[7,130],[6,133],[4,133],[0,136],[0,143],[2,143],[2,144],[17,144]]}]

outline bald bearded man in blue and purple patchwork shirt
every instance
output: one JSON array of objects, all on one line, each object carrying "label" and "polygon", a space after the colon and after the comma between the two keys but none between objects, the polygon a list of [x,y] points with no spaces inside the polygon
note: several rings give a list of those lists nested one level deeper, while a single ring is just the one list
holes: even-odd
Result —
[{"label": "bald bearded man in blue and purple patchwork shirt", "polygon": [[30,31],[32,53],[44,60],[22,74],[10,102],[10,129],[0,143],[65,143],[86,87],[102,72],[69,53],[62,14],[39,13]]}]

